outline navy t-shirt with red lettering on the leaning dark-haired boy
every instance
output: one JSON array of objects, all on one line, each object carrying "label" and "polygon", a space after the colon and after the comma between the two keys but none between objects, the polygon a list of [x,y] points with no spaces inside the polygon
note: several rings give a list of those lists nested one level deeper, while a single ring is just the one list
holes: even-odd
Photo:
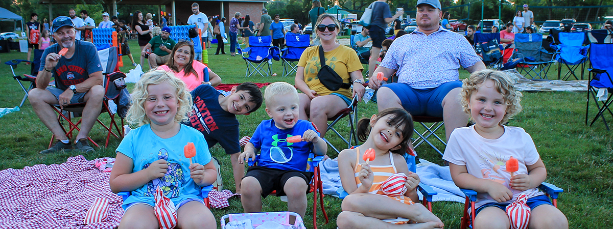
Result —
[{"label": "navy t-shirt with red lettering on the leaning dark-haired boy", "polygon": [[219,142],[227,154],[240,153],[238,145],[238,120],[236,115],[224,111],[219,105],[219,93],[215,87],[202,84],[192,90],[194,105],[189,120],[183,124],[204,134],[208,147]]}]

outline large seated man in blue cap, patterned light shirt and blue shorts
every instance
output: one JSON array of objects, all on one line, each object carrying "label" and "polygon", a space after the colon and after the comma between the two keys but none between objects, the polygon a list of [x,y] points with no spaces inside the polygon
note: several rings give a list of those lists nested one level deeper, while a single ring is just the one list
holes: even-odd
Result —
[{"label": "large seated man in blue cap, patterned light shirt and blue shorts", "polygon": [[373,73],[383,72],[387,78],[396,73],[398,83],[382,86],[370,78],[368,85],[379,89],[378,101],[386,101],[377,104],[379,111],[403,107],[411,115],[442,117],[449,139],[451,131],[468,123],[457,99],[462,90],[459,68],[472,73],[485,65],[466,38],[440,26],[441,2],[419,0],[416,8],[418,28],[396,38]]}]

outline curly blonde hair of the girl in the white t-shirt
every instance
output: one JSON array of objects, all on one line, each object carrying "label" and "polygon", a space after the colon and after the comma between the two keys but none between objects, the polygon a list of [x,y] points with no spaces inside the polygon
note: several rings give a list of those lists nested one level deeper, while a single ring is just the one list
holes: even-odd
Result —
[{"label": "curly blonde hair of the girl in the white t-shirt", "polygon": [[[508,107],[506,107],[506,114],[498,123],[499,125],[506,123],[510,118],[514,115],[522,111],[522,105],[520,104],[522,93],[517,92],[511,79],[506,73],[501,71],[493,71],[493,70],[481,70],[475,71],[470,75],[469,78],[466,78],[462,81],[462,108],[464,112],[470,114],[470,108],[468,107],[468,103],[470,103],[470,96],[473,95],[478,87],[478,84],[485,82],[486,80],[491,79],[494,82],[496,90],[503,95],[504,103]],[[472,120],[473,117],[470,117]]]}]

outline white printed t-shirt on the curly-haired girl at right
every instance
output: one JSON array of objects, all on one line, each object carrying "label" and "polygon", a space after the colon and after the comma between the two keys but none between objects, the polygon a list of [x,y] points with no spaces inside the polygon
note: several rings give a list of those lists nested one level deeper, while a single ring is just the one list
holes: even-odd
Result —
[{"label": "white printed t-shirt on the curly-haired girl at right", "polygon": [[[503,125],[504,126],[504,125]],[[538,151],[530,134],[523,128],[504,126],[504,134],[498,139],[485,139],[474,130],[474,125],[454,129],[447,142],[443,159],[455,165],[466,165],[466,170],[477,178],[487,179],[503,184],[511,189],[509,182],[511,173],[506,171],[506,161],[516,158],[519,162],[517,174],[527,174],[526,165],[533,165],[539,159]],[[537,188],[528,189],[524,192],[511,189],[512,203],[524,193],[528,198],[543,195]],[[496,202],[487,193],[477,194],[475,208],[485,203]]]}]

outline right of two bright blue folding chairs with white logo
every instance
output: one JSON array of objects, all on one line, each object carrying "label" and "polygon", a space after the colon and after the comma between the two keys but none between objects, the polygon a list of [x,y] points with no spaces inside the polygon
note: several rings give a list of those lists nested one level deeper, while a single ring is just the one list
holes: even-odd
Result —
[{"label": "right of two bright blue folding chairs with white logo", "polygon": [[302,52],[311,44],[311,37],[308,34],[286,34],[285,44],[287,48],[281,49],[281,61],[283,63],[283,76],[290,76],[296,73],[297,62],[302,56]]}]

